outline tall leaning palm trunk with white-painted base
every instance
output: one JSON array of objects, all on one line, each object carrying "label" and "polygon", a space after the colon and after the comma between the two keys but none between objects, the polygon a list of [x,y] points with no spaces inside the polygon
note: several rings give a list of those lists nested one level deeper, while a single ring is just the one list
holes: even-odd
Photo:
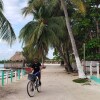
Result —
[{"label": "tall leaning palm trunk with white-painted base", "polygon": [[70,39],[71,39],[72,49],[73,49],[73,52],[74,52],[74,56],[75,56],[75,60],[76,60],[77,68],[78,68],[79,78],[86,78],[84,71],[83,71],[83,67],[82,67],[80,59],[79,59],[75,40],[74,40],[74,37],[73,37],[73,34],[72,34],[72,29],[71,29],[71,26],[70,26],[70,23],[69,23],[67,7],[64,4],[64,0],[60,0],[60,1],[61,1],[62,8],[64,10],[64,14],[65,14],[66,26],[67,26],[68,33],[69,33],[69,36],[70,36]]}]

